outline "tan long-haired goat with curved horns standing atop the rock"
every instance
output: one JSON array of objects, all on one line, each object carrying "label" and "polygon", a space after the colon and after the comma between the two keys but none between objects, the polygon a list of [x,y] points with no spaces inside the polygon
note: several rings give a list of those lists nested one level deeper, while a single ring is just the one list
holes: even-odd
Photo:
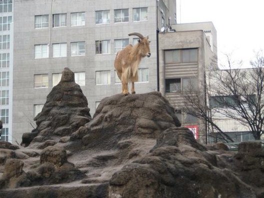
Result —
[{"label": "tan long-haired goat with curved horns standing atop the rock", "polygon": [[134,94],[134,82],[138,81],[138,65],[141,58],[150,56],[149,40],[148,36],[144,37],[142,34],[133,32],[130,35],[136,35],[139,37],[138,42],[132,46],[128,44],[122,50],[118,51],[115,60],[114,67],[116,73],[122,83],[122,93],[127,95],[128,92],[128,82],[132,82],[131,93]]}]

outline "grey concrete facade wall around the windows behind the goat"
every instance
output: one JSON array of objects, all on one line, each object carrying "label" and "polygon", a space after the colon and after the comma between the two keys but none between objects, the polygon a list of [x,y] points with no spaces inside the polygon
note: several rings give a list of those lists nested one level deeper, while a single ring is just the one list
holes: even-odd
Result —
[{"label": "grey concrete facade wall around the windows behind the goat", "polygon": [[[85,72],[85,86],[81,86],[88,100],[91,114],[95,101],[120,93],[121,85],[114,83],[113,52],[114,39],[132,37],[130,32],[148,35],[151,40],[151,56],[144,58],[140,67],[149,68],[149,82],[136,83],[137,93],[156,90],[156,2],[149,0],[14,0],[14,70],[13,70],[13,131],[16,139],[23,132],[30,132],[33,121],[33,104],[45,102],[51,90],[52,73],[61,72],[64,67],[72,71]],[[132,21],[133,7],[147,7],[147,21]],[[129,22],[114,23],[114,9],[129,8]],[[109,24],[95,24],[95,11],[110,9]],[[70,26],[70,12],[85,11],[84,26]],[[67,26],[55,28],[34,28],[34,15],[67,13]],[[95,54],[95,40],[110,39],[110,54]],[[84,56],[70,56],[70,42],[85,41]],[[67,57],[34,59],[34,44],[67,43]],[[111,70],[110,85],[95,85],[95,70]],[[34,74],[47,73],[48,88],[34,88]]]}]

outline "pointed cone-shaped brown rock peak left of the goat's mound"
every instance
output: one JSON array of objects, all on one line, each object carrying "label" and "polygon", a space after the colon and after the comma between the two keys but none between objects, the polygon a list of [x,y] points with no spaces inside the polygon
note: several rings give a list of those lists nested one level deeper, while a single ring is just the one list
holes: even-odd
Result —
[{"label": "pointed cone-shaped brown rock peak left of the goat's mound", "polygon": [[[37,127],[22,135],[21,144],[27,146],[31,141],[44,142],[52,136],[70,135],[91,120],[87,105],[86,97],[74,81],[74,73],[64,68],[59,83],[52,88],[41,112],[34,118]],[[43,147],[45,145],[40,145]]]}]

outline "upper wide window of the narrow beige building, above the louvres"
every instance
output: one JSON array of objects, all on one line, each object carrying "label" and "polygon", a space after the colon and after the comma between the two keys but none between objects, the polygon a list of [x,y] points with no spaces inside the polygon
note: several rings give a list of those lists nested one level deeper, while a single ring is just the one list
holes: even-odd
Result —
[{"label": "upper wide window of the narrow beige building, above the louvres", "polygon": [[165,50],[164,56],[165,63],[197,62],[198,50],[197,48]]}]

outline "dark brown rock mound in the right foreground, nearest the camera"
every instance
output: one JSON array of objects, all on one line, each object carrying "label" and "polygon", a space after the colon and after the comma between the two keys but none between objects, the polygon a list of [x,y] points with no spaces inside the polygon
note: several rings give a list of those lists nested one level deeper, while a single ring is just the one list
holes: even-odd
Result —
[{"label": "dark brown rock mound in the right foreground, nearest the camera", "polygon": [[[214,158],[214,159],[213,159]],[[144,157],[115,172],[109,197],[255,197],[187,128],[169,128]]]}]

